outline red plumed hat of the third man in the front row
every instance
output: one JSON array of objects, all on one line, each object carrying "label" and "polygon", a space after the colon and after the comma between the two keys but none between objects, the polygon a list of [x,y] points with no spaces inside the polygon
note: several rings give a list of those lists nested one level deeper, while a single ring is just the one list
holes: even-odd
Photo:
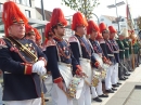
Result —
[{"label": "red plumed hat of the third man in the front row", "polygon": [[84,17],[80,12],[77,12],[73,15],[72,29],[75,30],[78,26],[88,26],[86,17]]}]

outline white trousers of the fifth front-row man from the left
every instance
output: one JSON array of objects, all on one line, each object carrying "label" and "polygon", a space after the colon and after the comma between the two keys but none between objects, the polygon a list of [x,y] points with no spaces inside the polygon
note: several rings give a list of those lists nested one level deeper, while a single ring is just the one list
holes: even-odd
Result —
[{"label": "white trousers of the fifth front-row man from the left", "polygon": [[114,70],[114,65],[111,65],[111,66],[107,68],[106,77],[105,77],[105,89],[106,89],[106,90],[112,89],[111,77],[112,77],[112,71],[113,71],[113,70]]}]

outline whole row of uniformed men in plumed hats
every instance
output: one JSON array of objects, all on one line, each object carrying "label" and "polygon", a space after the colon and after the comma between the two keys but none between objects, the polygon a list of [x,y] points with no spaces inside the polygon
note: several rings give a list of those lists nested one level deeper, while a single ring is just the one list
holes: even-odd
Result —
[{"label": "whole row of uniformed men in plumed hats", "polygon": [[[54,9],[41,44],[39,31],[13,2],[3,4],[5,36],[0,39],[0,69],[7,105],[43,105],[42,93],[51,88],[53,105],[91,105],[117,91],[139,66],[139,40],[133,30],[120,34],[104,23],[87,21],[80,12],[72,19],[75,31],[65,36],[67,21]],[[44,83],[48,82],[48,83]],[[103,90],[102,87],[105,87]]]}]

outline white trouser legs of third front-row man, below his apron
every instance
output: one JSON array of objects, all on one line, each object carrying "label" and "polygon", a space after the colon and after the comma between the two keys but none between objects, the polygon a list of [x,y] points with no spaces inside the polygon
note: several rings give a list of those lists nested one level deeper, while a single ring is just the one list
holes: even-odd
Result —
[{"label": "white trouser legs of third front-row man, below his apron", "polygon": [[91,105],[90,87],[86,83],[84,84],[81,95],[78,99],[78,105]]}]

